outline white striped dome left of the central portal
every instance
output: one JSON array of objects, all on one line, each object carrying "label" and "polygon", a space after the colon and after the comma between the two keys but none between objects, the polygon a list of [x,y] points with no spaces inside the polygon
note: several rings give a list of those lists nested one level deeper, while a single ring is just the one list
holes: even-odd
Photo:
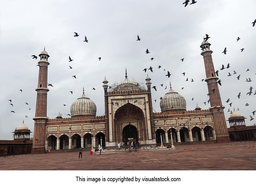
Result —
[{"label": "white striped dome left of the central portal", "polygon": [[70,107],[72,116],[96,116],[97,108],[95,103],[84,95],[78,98]]}]

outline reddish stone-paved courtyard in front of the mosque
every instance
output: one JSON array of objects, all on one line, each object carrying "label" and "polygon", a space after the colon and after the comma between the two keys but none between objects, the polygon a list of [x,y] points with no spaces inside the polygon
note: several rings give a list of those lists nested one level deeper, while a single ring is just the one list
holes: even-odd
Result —
[{"label": "reddish stone-paved courtyard in front of the mosque", "polygon": [[175,150],[102,155],[84,151],[82,159],[78,158],[78,151],[1,156],[0,170],[256,170],[256,142],[175,147]]}]

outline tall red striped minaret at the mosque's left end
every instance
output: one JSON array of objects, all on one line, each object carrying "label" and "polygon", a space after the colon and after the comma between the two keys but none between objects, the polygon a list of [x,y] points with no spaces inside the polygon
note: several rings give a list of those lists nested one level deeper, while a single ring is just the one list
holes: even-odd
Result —
[{"label": "tall red striped minaret at the mosque's left end", "polygon": [[35,121],[34,126],[34,137],[32,153],[44,153],[45,151],[45,140],[46,140],[46,120],[47,118],[47,72],[48,72],[48,58],[49,55],[45,49],[39,55],[39,76],[38,86],[36,88],[36,115],[33,118]]}]

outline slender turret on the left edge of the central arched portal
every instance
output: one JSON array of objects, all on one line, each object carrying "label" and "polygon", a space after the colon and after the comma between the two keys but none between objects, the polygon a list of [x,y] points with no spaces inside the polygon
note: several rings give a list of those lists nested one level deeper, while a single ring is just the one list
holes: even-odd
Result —
[{"label": "slender turret on the left edge of the central arched portal", "polygon": [[104,88],[104,98],[105,98],[105,124],[106,124],[106,142],[109,142],[109,112],[108,112],[108,80],[103,80],[102,87]]}]

